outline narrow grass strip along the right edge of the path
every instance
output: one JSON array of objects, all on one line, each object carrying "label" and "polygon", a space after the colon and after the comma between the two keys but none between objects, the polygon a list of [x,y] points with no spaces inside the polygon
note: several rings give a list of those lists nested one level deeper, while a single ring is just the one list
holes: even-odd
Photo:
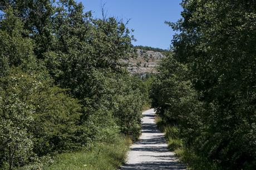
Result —
[{"label": "narrow grass strip along the right edge of the path", "polygon": [[187,165],[187,169],[196,170],[218,170],[213,162],[209,162],[204,156],[196,155],[191,149],[186,148],[179,137],[179,128],[168,126],[160,117],[156,117],[156,124],[159,130],[165,133],[165,138],[170,151],[174,151],[179,160]]}]

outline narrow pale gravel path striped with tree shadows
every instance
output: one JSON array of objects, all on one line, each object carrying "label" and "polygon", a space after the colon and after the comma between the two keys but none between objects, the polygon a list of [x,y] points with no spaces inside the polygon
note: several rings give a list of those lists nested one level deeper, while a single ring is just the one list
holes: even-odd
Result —
[{"label": "narrow pale gravel path striped with tree shadows", "polygon": [[143,112],[142,134],[131,146],[126,164],[120,169],[185,169],[185,166],[168,150],[164,134],[155,124],[154,109]]}]

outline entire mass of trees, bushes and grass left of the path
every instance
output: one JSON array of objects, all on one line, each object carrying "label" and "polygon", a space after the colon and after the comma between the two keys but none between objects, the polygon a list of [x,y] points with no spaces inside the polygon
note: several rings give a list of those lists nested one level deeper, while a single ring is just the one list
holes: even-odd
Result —
[{"label": "entire mass of trees, bushes and grass left of the path", "polygon": [[0,169],[119,166],[146,102],[121,62],[129,29],[73,0],[0,9]]}]

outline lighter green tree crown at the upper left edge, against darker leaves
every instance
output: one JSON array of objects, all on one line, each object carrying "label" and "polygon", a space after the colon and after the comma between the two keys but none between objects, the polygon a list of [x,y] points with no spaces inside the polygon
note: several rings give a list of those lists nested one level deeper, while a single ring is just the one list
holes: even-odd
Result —
[{"label": "lighter green tree crown at the upper left edge, against darker leaves", "polygon": [[26,31],[16,12],[6,9],[4,19],[0,21],[0,76],[5,76],[11,67],[20,66],[23,71],[35,69],[33,41],[22,36]]}]

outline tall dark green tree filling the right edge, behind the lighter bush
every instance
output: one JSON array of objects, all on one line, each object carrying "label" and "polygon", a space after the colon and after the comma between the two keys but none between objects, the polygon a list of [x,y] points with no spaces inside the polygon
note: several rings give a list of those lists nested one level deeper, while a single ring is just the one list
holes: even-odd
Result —
[{"label": "tall dark green tree filling the right edge, behind the lighter bush", "polygon": [[255,2],[184,0],[181,5],[183,19],[166,23],[180,31],[174,36],[173,57],[188,68],[185,75],[203,102],[194,115],[201,124],[190,148],[223,169],[254,169]]}]

